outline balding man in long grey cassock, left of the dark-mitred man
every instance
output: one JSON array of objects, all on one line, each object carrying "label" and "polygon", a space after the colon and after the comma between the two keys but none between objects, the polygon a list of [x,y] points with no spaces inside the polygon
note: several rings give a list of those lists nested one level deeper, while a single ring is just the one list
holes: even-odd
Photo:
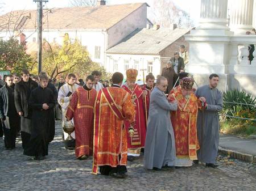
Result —
[{"label": "balding man in long grey cassock, left of the dark-mitred man", "polygon": [[169,103],[164,92],[167,79],[159,77],[150,97],[150,109],[144,148],[144,165],[147,169],[161,169],[174,166],[175,138],[170,111],[177,110],[177,101]]}]

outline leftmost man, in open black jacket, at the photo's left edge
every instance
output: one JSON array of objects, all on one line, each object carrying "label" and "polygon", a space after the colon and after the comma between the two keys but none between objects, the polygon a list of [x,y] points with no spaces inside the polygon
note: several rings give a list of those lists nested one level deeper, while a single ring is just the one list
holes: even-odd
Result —
[{"label": "leftmost man, in open black jacket, at the photo's left edge", "polygon": [[20,118],[14,104],[13,76],[7,75],[5,82],[5,86],[0,89],[0,118],[5,134],[5,148],[13,150]]}]

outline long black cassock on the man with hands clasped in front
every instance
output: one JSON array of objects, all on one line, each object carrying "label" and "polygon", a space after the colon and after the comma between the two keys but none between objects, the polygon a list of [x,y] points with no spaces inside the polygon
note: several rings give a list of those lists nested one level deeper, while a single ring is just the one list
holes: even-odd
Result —
[{"label": "long black cassock on the man with hands clasped in front", "polygon": [[[44,103],[49,106],[49,109],[43,109]],[[30,141],[24,150],[24,155],[46,156],[48,155],[48,140],[51,132],[51,115],[55,107],[52,90],[41,86],[35,88],[31,92],[28,105],[32,108],[32,129]]]}]

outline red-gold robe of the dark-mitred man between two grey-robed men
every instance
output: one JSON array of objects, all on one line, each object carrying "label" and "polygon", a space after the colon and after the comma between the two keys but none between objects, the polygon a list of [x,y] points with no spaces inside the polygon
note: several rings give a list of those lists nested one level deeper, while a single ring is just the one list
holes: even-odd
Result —
[{"label": "red-gold robe of the dark-mitred man between two grey-robed men", "polygon": [[178,101],[177,111],[171,112],[171,122],[175,134],[176,156],[177,158],[196,160],[196,151],[199,149],[196,120],[197,111],[201,108],[201,102],[193,93],[191,93],[188,100],[185,99],[180,87],[172,90],[168,99],[170,101]]}]

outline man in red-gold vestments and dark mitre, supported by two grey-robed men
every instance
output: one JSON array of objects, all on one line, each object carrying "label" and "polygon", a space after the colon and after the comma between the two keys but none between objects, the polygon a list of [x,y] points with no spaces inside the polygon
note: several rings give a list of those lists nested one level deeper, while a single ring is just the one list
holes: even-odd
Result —
[{"label": "man in red-gold vestments and dark mitre, supported by two grey-robed men", "polygon": [[196,151],[199,150],[197,139],[196,119],[197,111],[202,108],[205,98],[197,99],[193,93],[194,80],[185,77],[180,80],[180,88],[175,88],[168,96],[170,101],[177,100],[177,111],[171,112],[171,122],[174,128],[176,146],[176,167],[188,167],[193,160],[197,160]]}]

